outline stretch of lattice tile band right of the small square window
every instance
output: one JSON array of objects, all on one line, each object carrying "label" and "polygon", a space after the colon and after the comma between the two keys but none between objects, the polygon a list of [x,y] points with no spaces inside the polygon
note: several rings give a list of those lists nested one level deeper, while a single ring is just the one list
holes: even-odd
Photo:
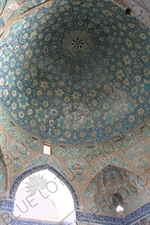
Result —
[{"label": "stretch of lattice tile band right of the small square window", "polygon": [[[142,122],[143,125],[128,132],[125,136],[118,135],[113,140],[104,143],[94,143],[91,146],[60,146],[53,145],[53,155],[61,158],[85,158],[88,155],[95,158],[110,156],[113,153],[122,152],[127,148],[132,148],[138,142],[149,139],[150,137],[150,119]],[[144,125],[145,123],[145,125]],[[136,147],[135,147],[136,148]],[[148,148],[148,146],[144,147]],[[142,151],[142,150],[141,150]]]}]

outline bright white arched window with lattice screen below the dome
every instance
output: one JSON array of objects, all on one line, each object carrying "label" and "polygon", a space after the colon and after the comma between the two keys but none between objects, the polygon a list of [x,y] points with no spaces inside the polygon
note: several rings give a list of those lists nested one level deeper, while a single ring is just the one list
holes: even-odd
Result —
[{"label": "bright white arched window with lattice screen below the dome", "polygon": [[19,185],[13,215],[16,218],[61,222],[75,210],[68,187],[51,171],[30,174]]}]

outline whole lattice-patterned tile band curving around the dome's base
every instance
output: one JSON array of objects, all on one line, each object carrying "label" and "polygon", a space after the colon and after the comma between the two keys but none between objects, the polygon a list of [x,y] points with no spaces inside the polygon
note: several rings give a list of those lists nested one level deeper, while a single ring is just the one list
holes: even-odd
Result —
[{"label": "whole lattice-patterned tile band curving around the dome's base", "polygon": [[[53,155],[61,158],[85,158],[90,154],[93,158],[95,158],[96,155],[99,154],[99,158],[102,158],[109,156],[110,154],[115,152],[121,152],[126,148],[131,148],[132,146],[135,146],[137,142],[148,140],[148,138],[150,137],[150,119],[146,121],[142,120],[142,124],[143,126],[132,130],[125,136],[120,135],[114,138],[114,140],[112,141],[99,144],[96,143],[96,146],[95,144],[92,146],[81,147],[66,145],[60,146],[55,144],[53,145]],[[3,108],[1,107],[0,125],[2,125],[2,127],[5,129],[5,132],[9,135],[9,139],[10,137],[12,137],[18,143],[23,143],[23,145],[25,145],[29,150],[34,150],[42,153],[43,143],[41,142],[41,140],[35,140],[31,138],[29,133],[27,133],[24,129],[21,129],[16,124],[13,124],[10,118],[8,118]],[[12,143],[13,142],[14,141],[12,141]],[[131,150],[131,152],[137,151],[137,147],[135,146],[134,148],[135,149]],[[5,149],[5,147],[3,147],[3,149]],[[142,152],[142,146],[140,147],[140,149],[140,152]],[[144,149],[146,151],[147,145],[144,147]]]}]

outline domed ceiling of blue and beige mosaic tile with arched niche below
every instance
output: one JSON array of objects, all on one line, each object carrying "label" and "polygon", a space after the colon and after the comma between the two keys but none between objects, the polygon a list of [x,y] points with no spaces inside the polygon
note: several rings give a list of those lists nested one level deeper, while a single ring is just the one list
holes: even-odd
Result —
[{"label": "domed ceiling of blue and beige mosaic tile with arched niche below", "polygon": [[115,216],[114,192],[126,214],[149,202],[148,26],[106,0],[0,1],[0,10],[1,151],[27,149],[11,182],[49,164],[85,212]]}]

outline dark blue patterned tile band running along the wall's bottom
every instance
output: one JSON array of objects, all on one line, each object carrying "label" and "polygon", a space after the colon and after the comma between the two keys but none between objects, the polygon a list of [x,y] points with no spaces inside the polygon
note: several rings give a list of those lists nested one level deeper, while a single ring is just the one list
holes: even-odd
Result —
[{"label": "dark blue patterned tile band running along the wall's bottom", "polygon": [[[9,213],[13,210],[13,202],[10,200],[0,200],[1,213]],[[141,220],[150,214],[150,203],[145,204],[141,208],[135,210],[134,212],[128,214],[122,218],[109,217],[109,216],[101,216],[92,213],[84,213],[82,211],[76,211],[76,220],[80,222],[87,223],[96,223],[96,224],[107,224],[107,225],[139,225],[140,223],[136,223],[136,221]],[[10,215],[11,216],[11,215]],[[6,215],[5,215],[6,218]],[[26,221],[19,219],[12,219],[11,225],[46,225],[52,223],[41,223],[36,221]],[[63,225],[67,225],[62,222]]]}]

